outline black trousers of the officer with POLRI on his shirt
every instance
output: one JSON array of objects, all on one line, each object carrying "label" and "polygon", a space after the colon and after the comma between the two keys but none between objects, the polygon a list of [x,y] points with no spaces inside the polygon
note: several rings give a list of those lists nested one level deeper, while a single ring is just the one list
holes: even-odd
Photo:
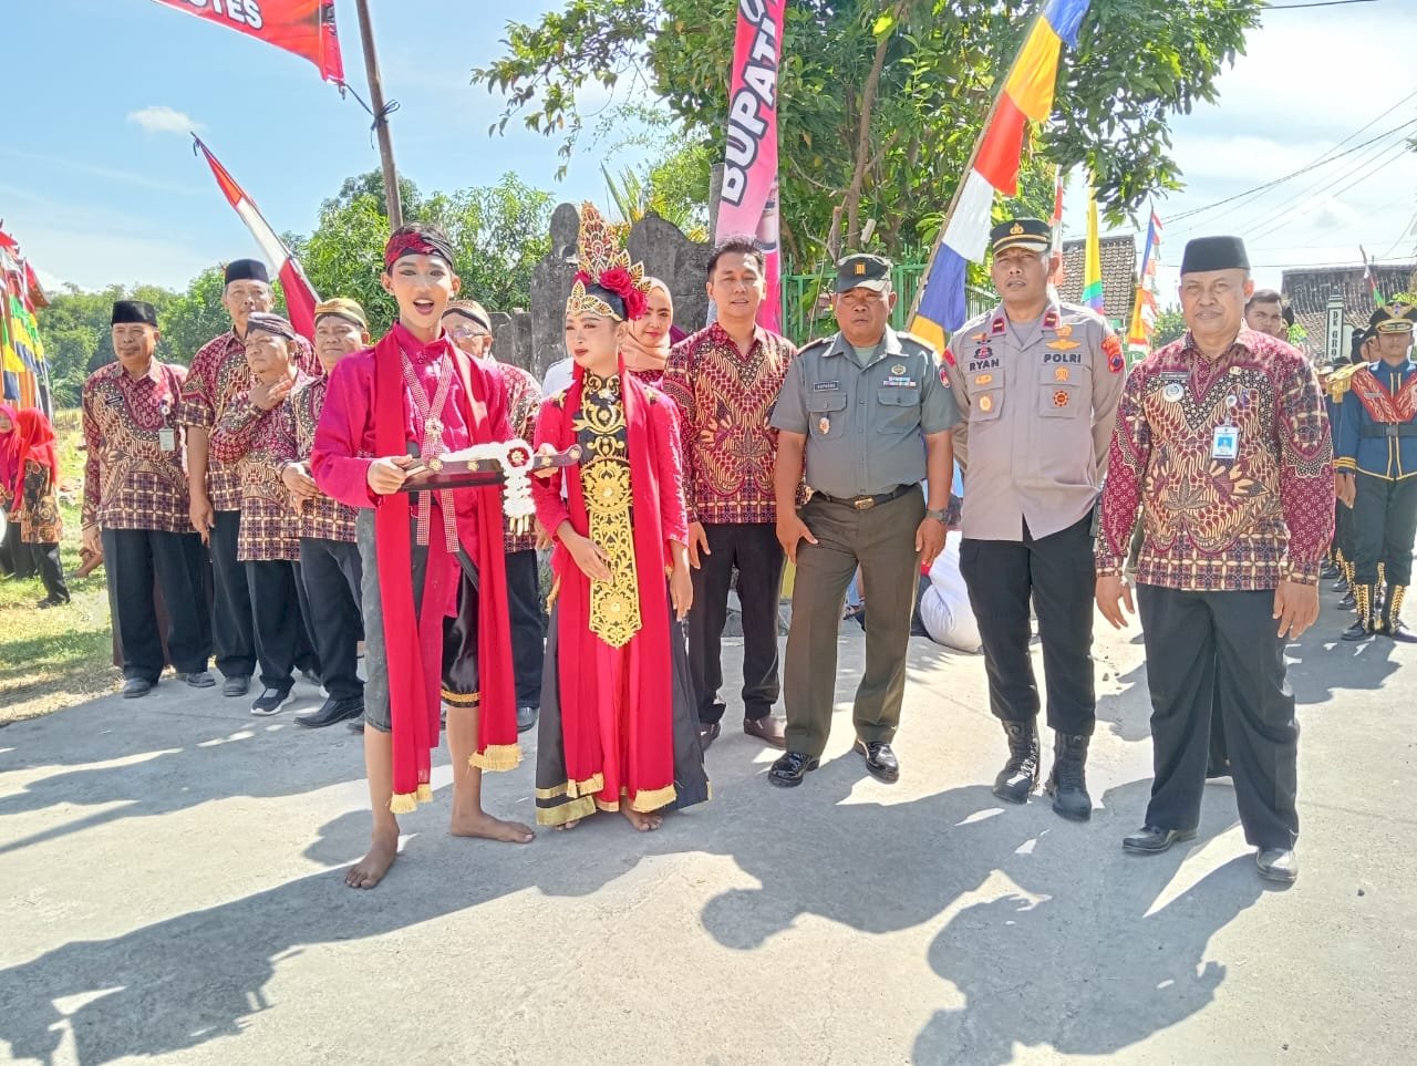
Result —
[{"label": "black trousers of the officer with POLRI on his shirt", "polygon": [[1039,685],[1029,658],[1029,598],[1043,638],[1049,726],[1068,736],[1093,736],[1093,512],[1037,540],[961,540],[959,573],[979,622],[989,709],[1003,722],[1032,722]]}]

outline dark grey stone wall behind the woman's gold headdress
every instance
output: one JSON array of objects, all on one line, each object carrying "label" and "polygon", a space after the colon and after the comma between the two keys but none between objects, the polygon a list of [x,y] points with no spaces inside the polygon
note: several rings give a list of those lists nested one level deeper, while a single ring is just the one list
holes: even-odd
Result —
[{"label": "dark grey stone wall behind the woman's gold headdress", "polygon": [[[492,312],[493,350],[503,363],[530,370],[538,380],[565,356],[565,298],[575,279],[575,237],[581,214],[561,204],[551,214],[551,251],[531,272],[531,306]],[[686,333],[701,329],[708,313],[704,276],[708,245],[690,241],[679,227],[656,214],[635,223],[626,242],[633,262],[660,278],[674,296],[674,325]]]}]

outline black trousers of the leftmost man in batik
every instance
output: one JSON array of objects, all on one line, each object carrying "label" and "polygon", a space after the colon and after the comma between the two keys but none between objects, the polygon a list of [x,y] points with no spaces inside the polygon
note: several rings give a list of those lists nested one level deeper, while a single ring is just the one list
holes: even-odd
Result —
[{"label": "black trousers of the leftmost man in batik", "polygon": [[123,649],[123,676],[157,680],[163,672],[156,585],[167,614],[167,655],[180,673],[198,673],[211,659],[207,549],[196,533],[105,529],[108,602]]}]

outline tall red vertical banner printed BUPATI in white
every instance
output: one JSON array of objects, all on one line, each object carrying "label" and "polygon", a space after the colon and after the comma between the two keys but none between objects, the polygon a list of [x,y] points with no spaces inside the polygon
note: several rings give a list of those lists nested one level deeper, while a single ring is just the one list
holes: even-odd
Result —
[{"label": "tall red vertical banner printed BUPATI in white", "polygon": [[782,329],[778,248],[778,61],[786,0],[738,0],[723,193],[714,241],[747,234],[762,249],[767,299],[758,325]]}]

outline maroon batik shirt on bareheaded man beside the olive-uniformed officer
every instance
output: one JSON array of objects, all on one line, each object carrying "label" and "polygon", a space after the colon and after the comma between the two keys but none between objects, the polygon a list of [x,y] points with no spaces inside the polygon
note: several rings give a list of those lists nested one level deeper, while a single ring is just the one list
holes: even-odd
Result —
[{"label": "maroon batik shirt on bareheaded man beside the olive-uniformed officer", "polygon": [[794,356],[791,340],[761,326],[744,356],[717,322],[670,350],[660,387],[679,407],[690,522],[778,520],[768,420]]}]

